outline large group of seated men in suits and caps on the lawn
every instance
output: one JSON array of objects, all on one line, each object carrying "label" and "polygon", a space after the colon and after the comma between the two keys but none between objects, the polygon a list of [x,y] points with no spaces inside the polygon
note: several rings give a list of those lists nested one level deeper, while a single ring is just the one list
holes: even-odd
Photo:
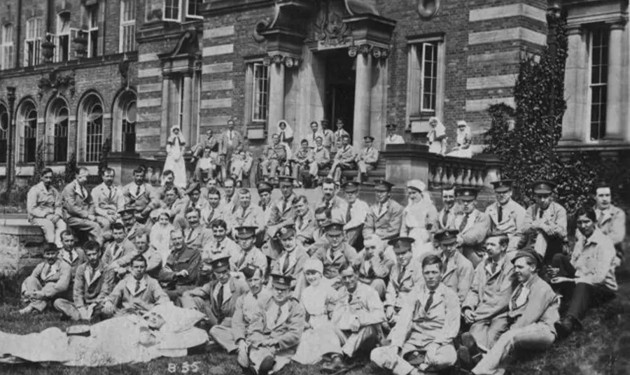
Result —
[{"label": "large group of seated men in suits and caps on the lawn", "polygon": [[[167,179],[154,189],[139,168],[121,188],[106,169],[90,194],[80,169],[59,194],[51,177],[45,169],[29,192],[29,219],[49,243],[22,285],[22,313],[54,306],[90,320],[179,304],[202,311],[211,338],[258,374],[286,364],[314,319],[302,306],[312,297],[304,292],[311,260],[335,291],[324,313],[339,339],[340,350],[323,357],[331,373],[369,355],[393,374],[457,362],[501,374],[512,351],[549,348],[617,290],[625,217],[606,185],[595,207],[575,214],[573,249],[553,183],[535,183],[536,202],[525,209],[511,198],[512,181],[497,181],[486,212],[476,208],[477,190],[444,188],[444,207],[427,225],[434,248],[418,253],[416,239],[399,236],[402,206],[388,181],[377,181],[370,206],[358,183],[344,184],[346,200],[326,179],[323,199],[309,202],[281,176],[281,197],[271,201],[263,182],[253,205],[249,190],[235,197],[229,179],[224,194],[211,181],[180,192]],[[153,211],[172,225],[166,255],[152,243],[151,227],[161,225]],[[89,237],[81,247],[78,232]]]}]

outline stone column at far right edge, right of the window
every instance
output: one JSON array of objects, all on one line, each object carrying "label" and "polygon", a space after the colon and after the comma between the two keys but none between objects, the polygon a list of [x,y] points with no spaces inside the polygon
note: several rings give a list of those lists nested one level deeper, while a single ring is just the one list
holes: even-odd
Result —
[{"label": "stone column at far right edge, right of the window", "polygon": [[610,25],[608,39],[608,85],[606,87],[606,133],[605,139],[621,140],[624,137],[622,116],[622,37],[624,24]]}]

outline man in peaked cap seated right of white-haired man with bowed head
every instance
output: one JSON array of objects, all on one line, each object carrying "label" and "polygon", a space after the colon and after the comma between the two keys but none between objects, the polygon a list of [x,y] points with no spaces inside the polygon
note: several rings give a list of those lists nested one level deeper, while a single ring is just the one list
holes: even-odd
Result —
[{"label": "man in peaked cap seated right of white-haired man with bowed head", "polygon": [[396,256],[385,295],[385,318],[390,327],[398,321],[409,292],[422,281],[421,260],[413,257],[414,241],[411,237],[398,237],[388,242]]}]

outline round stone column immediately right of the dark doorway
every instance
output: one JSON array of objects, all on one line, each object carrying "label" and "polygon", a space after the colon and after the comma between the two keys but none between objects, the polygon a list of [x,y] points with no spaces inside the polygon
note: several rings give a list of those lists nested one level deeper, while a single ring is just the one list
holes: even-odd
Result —
[{"label": "round stone column immediately right of the dark doorway", "polygon": [[372,94],[372,54],[356,55],[356,88],[354,92],[353,145],[363,144],[363,137],[370,134],[370,106]]}]

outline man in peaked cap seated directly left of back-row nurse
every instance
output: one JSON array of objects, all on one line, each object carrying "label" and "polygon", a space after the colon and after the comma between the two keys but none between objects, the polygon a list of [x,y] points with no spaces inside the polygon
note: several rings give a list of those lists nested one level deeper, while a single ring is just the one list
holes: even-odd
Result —
[{"label": "man in peaked cap seated directly left of back-row nurse", "polygon": [[384,241],[390,240],[400,234],[403,208],[397,201],[391,199],[393,183],[386,180],[377,180],[374,183],[377,202],[372,204],[367,212],[363,237],[377,234]]}]

